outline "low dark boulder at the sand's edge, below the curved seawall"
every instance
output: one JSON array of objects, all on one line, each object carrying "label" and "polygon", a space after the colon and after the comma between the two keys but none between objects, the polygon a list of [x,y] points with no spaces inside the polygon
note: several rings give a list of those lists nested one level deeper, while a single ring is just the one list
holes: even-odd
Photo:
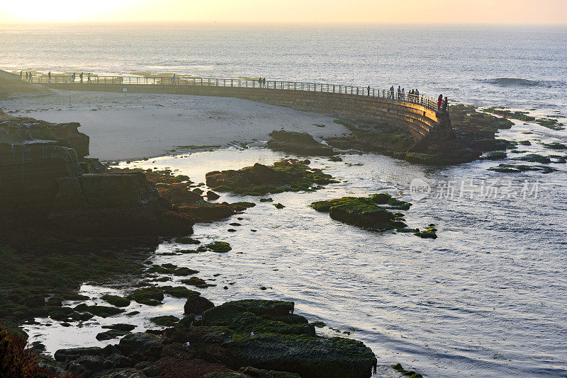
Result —
[{"label": "low dark boulder at the sand's edge, below the curved seawall", "polygon": [[332,156],[335,154],[332,147],[317,142],[306,132],[274,130],[269,135],[271,139],[268,141],[268,147],[275,151],[305,156]]}]

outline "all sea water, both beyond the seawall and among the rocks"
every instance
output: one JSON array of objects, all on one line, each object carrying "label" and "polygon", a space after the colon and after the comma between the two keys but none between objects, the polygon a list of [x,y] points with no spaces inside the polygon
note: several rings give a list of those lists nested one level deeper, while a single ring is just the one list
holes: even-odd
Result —
[{"label": "all sea water, both beyond the seawall and among the rocks", "polygon": [[[400,84],[455,101],[564,118],[566,42],[567,30],[559,27],[0,26],[0,68]],[[564,130],[515,122],[500,137],[532,142],[511,158],[566,156],[541,145],[566,143]],[[270,164],[283,156],[231,148],[121,165],[169,167],[203,182],[208,171]],[[242,219],[196,226],[197,239],[229,241],[229,253],[162,255],[187,248],[166,242],[153,262],[200,270],[199,277],[218,284],[201,290],[217,304],[249,297],[293,300],[297,313],[327,323],[319,333],[338,335],[334,328],[369,345],[382,366],[380,377],[397,377],[387,368],[395,362],[426,377],[567,377],[566,164],[549,164],[558,171],[547,174],[509,174],[487,168],[518,161],[430,168],[373,154],[342,157],[344,162],[313,159],[340,183],[315,193],[271,195],[286,206],[281,210],[259,203],[237,216]],[[430,191],[413,192],[412,181]],[[359,229],[308,207],[315,200],[381,191],[414,203],[405,212],[409,226],[438,224],[439,238]],[[232,195],[223,200],[257,202]],[[82,290],[100,303],[100,294],[127,289]],[[26,330],[52,353],[98,345],[94,336],[103,323],[155,328],[150,317],[180,316],[182,307],[183,301],[167,297],[160,307],[132,304],[129,310],[140,311],[135,319],[94,319],[82,328],[37,319],[40,324]]]}]

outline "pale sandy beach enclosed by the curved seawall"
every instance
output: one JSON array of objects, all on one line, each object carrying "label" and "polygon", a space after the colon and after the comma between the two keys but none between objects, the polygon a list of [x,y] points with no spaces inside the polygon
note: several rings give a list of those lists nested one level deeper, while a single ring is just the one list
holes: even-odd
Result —
[{"label": "pale sandy beach enclosed by the curved seawall", "polygon": [[315,138],[348,133],[325,115],[238,98],[51,91],[0,101],[0,108],[49,122],[79,122],[79,131],[91,137],[90,156],[101,161],[150,158],[179,146],[266,141],[273,130]]}]

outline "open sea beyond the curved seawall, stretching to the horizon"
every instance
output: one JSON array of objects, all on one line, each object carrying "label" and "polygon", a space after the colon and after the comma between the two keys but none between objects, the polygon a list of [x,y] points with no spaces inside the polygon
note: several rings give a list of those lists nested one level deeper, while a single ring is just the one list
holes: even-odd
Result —
[{"label": "open sea beyond the curved seawall, stretching to the horizon", "polygon": [[0,52],[0,69],[400,85],[567,115],[566,26],[0,25]]}]

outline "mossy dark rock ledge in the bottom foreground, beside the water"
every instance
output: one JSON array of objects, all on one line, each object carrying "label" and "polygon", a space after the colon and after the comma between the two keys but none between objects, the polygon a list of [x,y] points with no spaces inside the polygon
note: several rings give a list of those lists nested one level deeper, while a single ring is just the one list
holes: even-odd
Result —
[{"label": "mossy dark rock ledge in the bottom foreground, beside the water", "polygon": [[131,333],[105,348],[58,350],[52,370],[84,377],[369,378],[376,356],[364,343],[315,336],[293,302],[227,302],[176,326]]}]

